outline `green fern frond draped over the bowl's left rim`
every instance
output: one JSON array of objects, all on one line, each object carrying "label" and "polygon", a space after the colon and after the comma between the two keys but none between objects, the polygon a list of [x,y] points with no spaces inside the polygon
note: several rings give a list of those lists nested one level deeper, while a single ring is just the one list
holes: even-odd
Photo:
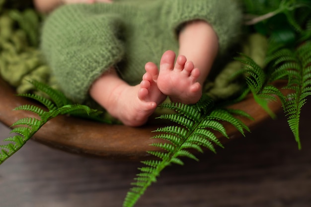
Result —
[{"label": "green fern frond draped over the bowl's left rim", "polygon": [[23,94],[21,96],[38,101],[40,104],[44,105],[48,111],[36,105],[22,105],[14,109],[33,112],[39,118],[23,118],[16,121],[11,126],[13,128],[11,133],[17,135],[5,138],[3,141],[8,143],[0,145],[0,164],[18,151],[44,124],[58,115],[74,114],[76,116],[84,116],[86,114],[89,118],[99,120],[100,112],[90,109],[85,105],[73,104],[60,91],[43,83],[36,81],[32,83],[38,90],[45,92],[50,99],[35,94]]}]

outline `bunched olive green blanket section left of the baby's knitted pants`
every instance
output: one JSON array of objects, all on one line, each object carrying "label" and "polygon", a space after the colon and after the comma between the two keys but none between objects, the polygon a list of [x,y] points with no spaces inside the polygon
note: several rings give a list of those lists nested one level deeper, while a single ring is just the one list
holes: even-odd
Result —
[{"label": "bunched olive green blanket section left of the baby's knitted pants", "polygon": [[17,93],[34,90],[28,80],[55,85],[38,50],[41,20],[33,8],[17,10],[0,3],[0,75]]}]

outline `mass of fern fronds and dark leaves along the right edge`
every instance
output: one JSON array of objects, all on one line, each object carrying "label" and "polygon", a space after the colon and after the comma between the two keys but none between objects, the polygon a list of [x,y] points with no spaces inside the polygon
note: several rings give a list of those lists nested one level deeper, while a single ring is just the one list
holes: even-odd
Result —
[{"label": "mass of fern fronds and dark leaves along the right edge", "polygon": [[[274,114],[270,111],[268,102],[275,101],[276,97],[279,97],[300,149],[299,118],[307,96],[311,95],[311,2],[309,0],[272,0],[269,1],[267,7],[265,3],[256,7],[259,3],[256,0],[245,0],[245,2],[250,12],[270,14],[263,15],[269,18],[261,18],[262,22],[254,21],[255,30],[270,38],[266,57],[267,67],[265,69],[267,71],[264,71],[249,57],[241,55],[242,58],[236,58],[243,64],[239,74],[245,74],[246,84],[255,101],[272,117]],[[278,6],[273,7],[272,4]],[[291,90],[292,93],[284,96],[271,84],[280,79],[288,80],[284,89]]]}]

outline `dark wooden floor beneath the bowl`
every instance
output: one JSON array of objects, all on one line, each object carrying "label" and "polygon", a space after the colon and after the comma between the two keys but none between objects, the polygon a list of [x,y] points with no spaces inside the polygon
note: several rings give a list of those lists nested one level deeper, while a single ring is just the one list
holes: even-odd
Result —
[{"label": "dark wooden floor beneath the bowl", "polygon": [[[286,119],[268,120],[216,155],[165,169],[137,207],[311,207],[310,119],[308,104],[301,151]],[[121,207],[140,166],[29,141],[0,166],[0,207]]]}]

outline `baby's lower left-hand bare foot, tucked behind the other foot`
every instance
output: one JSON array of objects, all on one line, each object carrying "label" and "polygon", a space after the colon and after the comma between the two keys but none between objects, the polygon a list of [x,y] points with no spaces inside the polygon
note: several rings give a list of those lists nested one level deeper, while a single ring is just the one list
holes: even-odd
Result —
[{"label": "baby's lower left-hand bare foot, tucked behind the other foot", "polygon": [[155,112],[156,107],[165,100],[166,96],[157,88],[154,78],[158,75],[155,64],[146,64],[143,80],[136,86],[120,84],[112,91],[108,113],[119,119],[124,125],[137,127],[145,124]]}]

